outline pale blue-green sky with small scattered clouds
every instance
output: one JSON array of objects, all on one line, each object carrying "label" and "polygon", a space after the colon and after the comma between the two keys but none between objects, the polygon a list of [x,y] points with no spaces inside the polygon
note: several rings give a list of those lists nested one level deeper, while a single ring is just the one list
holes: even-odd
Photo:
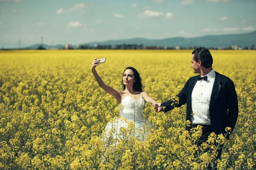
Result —
[{"label": "pale blue-green sky with small scattered clouds", "polygon": [[0,0],[0,47],[256,30],[256,0]]}]

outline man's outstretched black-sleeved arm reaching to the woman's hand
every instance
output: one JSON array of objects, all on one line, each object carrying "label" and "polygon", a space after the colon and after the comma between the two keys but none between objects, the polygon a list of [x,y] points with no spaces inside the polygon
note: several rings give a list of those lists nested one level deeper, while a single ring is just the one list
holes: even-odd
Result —
[{"label": "man's outstretched black-sleeved arm reaching to the woman's hand", "polygon": [[175,107],[180,107],[181,105],[186,104],[186,93],[187,93],[188,82],[189,81],[186,82],[186,84],[184,85],[180,93],[175,98],[172,98],[169,101],[164,102],[160,105],[161,110],[163,112],[166,113],[174,109]]}]

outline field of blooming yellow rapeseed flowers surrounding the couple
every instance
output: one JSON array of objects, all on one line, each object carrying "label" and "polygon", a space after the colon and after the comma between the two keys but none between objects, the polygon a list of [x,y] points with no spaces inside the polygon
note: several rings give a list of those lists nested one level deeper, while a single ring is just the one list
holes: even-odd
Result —
[{"label": "field of blooming yellow rapeseed flowers surrounding the couple", "polygon": [[[0,169],[256,169],[256,51],[210,52],[214,70],[236,86],[239,118],[230,140],[212,133],[198,147],[200,126],[192,137],[184,130],[185,105],[156,113],[146,103],[145,119],[156,130],[143,142],[103,140],[119,108],[91,72],[93,59],[106,57],[96,70],[122,90],[123,71],[132,66],[149,96],[166,102],[195,76],[192,50],[0,51]],[[222,159],[214,162],[222,143]]]}]

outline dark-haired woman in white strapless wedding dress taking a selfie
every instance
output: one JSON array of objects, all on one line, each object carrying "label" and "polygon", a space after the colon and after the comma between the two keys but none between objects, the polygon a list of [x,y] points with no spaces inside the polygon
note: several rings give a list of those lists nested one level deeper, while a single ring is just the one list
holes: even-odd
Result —
[{"label": "dark-haired woman in white strapless wedding dress taking a selfie", "polygon": [[122,78],[123,91],[120,91],[111,88],[102,81],[95,69],[97,65],[99,65],[99,59],[94,59],[91,68],[93,76],[103,90],[116,98],[121,116],[119,119],[108,122],[105,127],[105,133],[107,135],[112,134],[114,138],[122,138],[124,137],[123,130],[131,127],[129,125],[134,124],[133,132],[126,131],[126,133],[129,133],[129,136],[138,137],[143,141],[148,134],[148,127],[153,128],[150,122],[143,119],[144,101],[151,103],[153,106],[157,102],[150,98],[146,92],[143,92],[140,74],[135,68],[128,67],[125,69]]}]

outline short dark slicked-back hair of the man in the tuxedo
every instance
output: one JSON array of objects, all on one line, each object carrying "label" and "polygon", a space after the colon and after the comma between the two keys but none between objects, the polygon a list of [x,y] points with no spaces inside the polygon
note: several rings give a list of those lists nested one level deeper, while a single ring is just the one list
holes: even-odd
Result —
[{"label": "short dark slicked-back hair of the man in the tuxedo", "polygon": [[211,68],[212,67],[212,55],[210,51],[207,48],[195,48],[195,50],[192,52],[194,55],[195,62],[198,62],[198,60],[201,60],[202,65],[204,68]]}]

